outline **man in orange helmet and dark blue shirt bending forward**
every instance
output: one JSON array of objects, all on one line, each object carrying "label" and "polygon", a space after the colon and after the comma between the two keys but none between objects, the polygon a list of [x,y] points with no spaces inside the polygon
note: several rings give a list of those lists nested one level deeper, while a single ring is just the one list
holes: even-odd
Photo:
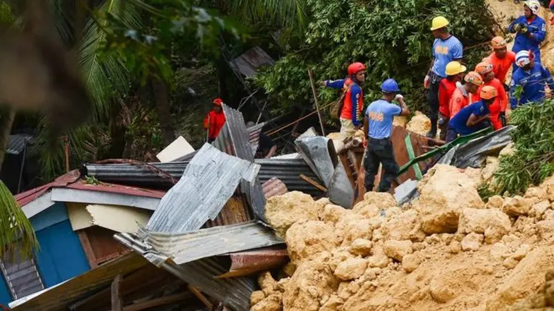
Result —
[{"label": "man in orange helmet and dark blue shirt bending forward", "polygon": [[490,122],[488,122],[490,119],[489,107],[497,95],[496,88],[483,86],[481,93],[479,93],[481,100],[466,106],[450,119],[446,142],[452,142],[458,136],[470,135],[490,126]]}]

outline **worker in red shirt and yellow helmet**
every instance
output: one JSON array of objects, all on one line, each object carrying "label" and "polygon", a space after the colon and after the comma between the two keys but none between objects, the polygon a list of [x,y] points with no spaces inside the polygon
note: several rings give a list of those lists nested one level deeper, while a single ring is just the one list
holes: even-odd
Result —
[{"label": "worker in red shirt and yellow helmet", "polygon": [[447,77],[440,80],[438,84],[438,127],[440,128],[441,140],[445,140],[448,129],[450,98],[452,98],[452,94],[456,90],[456,84],[460,82],[466,69],[459,62],[449,62],[445,70]]}]

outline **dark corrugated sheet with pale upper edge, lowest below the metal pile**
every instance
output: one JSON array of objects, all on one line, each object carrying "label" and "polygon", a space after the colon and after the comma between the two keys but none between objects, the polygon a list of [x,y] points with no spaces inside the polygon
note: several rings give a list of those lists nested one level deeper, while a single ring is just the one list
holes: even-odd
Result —
[{"label": "dark corrugated sheet with pale upper edge, lowest below the metal pile", "polygon": [[256,281],[250,278],[217,279],[227,272],[220,258],[202,258],[183,265],[168,260],[167,256],[157,254],[150,245],[128,234],[116,234],[118,241],[142,254],[154,265],[162,267],[190,285],[202,288],[209,296],[222,301],[227,307],[236,310],[249,310],[250,294],[256,290]]}]

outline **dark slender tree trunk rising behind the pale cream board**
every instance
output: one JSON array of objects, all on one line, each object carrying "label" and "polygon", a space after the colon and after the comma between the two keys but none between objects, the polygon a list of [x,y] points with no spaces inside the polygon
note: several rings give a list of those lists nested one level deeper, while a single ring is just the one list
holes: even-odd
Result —
[{"label": "dark slender tree trunk rising behind the pale cream board", "polygon": [[171,120],[168,84],[153,77],[152,91],[154,92],[154,99],[156,100],[156,110],[160,122],[161,134],[163,135],[163,142],[168,146],[168,144],[171,144],[173,140],[175,140],[175,129],[173,128],[173,122]]}]

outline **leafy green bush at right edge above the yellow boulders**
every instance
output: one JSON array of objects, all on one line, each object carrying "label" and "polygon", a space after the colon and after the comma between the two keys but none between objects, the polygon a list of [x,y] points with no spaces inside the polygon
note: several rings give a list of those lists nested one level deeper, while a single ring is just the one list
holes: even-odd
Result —
[{"label": "leafy green bush at right edge above the yellow boulders", "polygon": [[524,193],[554,173],[554,100],[521,106],[510,114],[515,153],[502,157],[494,174],[500,194]]}]

